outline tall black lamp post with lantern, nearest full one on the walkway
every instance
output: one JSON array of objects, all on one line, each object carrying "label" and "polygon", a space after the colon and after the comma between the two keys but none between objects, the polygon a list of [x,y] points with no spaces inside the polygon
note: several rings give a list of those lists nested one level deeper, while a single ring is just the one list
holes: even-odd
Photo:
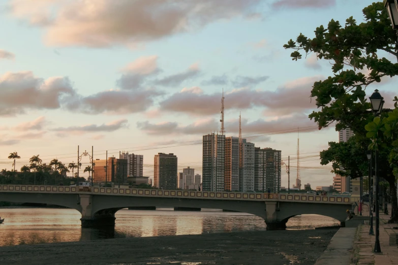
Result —
[{"label": "tall black lamp post with lantern, nearest full one on the walkway", "polygon": [[[397,11],[398,12],[398,11]],[[375,116],[379,116],[384,105],[383,97],[380,95],[379,90],[369,97],[372,103],[372,109],[375,112]],[[377,137],[377,135],[376,135]],[[379,169],[378,169],[378,150],[377,144],[375,145],[375,204],[376,204],[376,239],[375,239],[375,253],[381,253],[380,241],[379,241]]]}]

